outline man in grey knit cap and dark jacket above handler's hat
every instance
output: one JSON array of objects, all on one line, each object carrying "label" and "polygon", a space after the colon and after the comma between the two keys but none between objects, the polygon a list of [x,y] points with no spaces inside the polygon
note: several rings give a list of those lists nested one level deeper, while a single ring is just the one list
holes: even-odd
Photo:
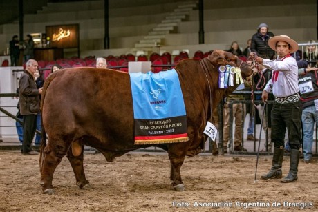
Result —
[{"label": "man in grey knit cap and dark jacket above handler's hat", "polygon": [[259,57],[274,59],[275,52],[268,46],[268,39],[274,37],[272,32],[268,32],[268,25],[261,23],[257,32],[252,36],[251,52],[256,52]]}]

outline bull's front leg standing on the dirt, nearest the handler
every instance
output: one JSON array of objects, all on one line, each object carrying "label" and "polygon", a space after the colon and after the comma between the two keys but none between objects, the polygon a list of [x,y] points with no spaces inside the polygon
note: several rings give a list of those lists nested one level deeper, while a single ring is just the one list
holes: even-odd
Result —
[{"label": "bull's front leg standing on the dirt, nearest the handler", "polygon": [[169,151],[169,160],[171,164],[170,180],[176,191],[185,191],[185,185],[181,179],[181,166],[185,160],[185,155],[177,156]]}]

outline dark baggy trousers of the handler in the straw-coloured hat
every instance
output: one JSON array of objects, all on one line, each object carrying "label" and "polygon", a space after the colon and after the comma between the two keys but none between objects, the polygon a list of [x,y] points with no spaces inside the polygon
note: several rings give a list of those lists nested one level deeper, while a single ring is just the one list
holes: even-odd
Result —
[{"label": "dark baggy trousers of the handler in the straw-coloured hat", "polygon": [[301,148],[301,102],[274,103],[272,108],[272,142],[276,148],[284,148],[284,137],[288,132],[290,148]]}]

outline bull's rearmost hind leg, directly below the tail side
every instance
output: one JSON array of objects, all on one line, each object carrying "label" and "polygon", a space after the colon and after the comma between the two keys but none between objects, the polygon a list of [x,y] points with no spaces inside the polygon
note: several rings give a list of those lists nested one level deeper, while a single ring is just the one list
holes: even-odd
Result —
[{"label": "bull's rearmost hind leg, directly below the tail side", "polygon": [[41,186],[43,193],[54,194],[53,174],[66,154],[67,148],[62,142],[48,142],[47,146],[41,149]]}]

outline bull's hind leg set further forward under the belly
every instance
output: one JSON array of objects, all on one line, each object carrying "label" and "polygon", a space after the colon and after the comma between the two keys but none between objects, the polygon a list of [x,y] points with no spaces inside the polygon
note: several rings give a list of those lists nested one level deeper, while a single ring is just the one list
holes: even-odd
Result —
[{"label": "bull's hind leg set further forward under the belly", "polygon": [[80,189],[91,189],[91,185],[89,184],[88,180],[86,180],[84,173],[84,146],[80,146],[80,148],[81,150],[79,155],[74,154],[73,147],[69,148],[66,157],[70,161],[71,166],[73,168],[77,186],[79,186]]}]

